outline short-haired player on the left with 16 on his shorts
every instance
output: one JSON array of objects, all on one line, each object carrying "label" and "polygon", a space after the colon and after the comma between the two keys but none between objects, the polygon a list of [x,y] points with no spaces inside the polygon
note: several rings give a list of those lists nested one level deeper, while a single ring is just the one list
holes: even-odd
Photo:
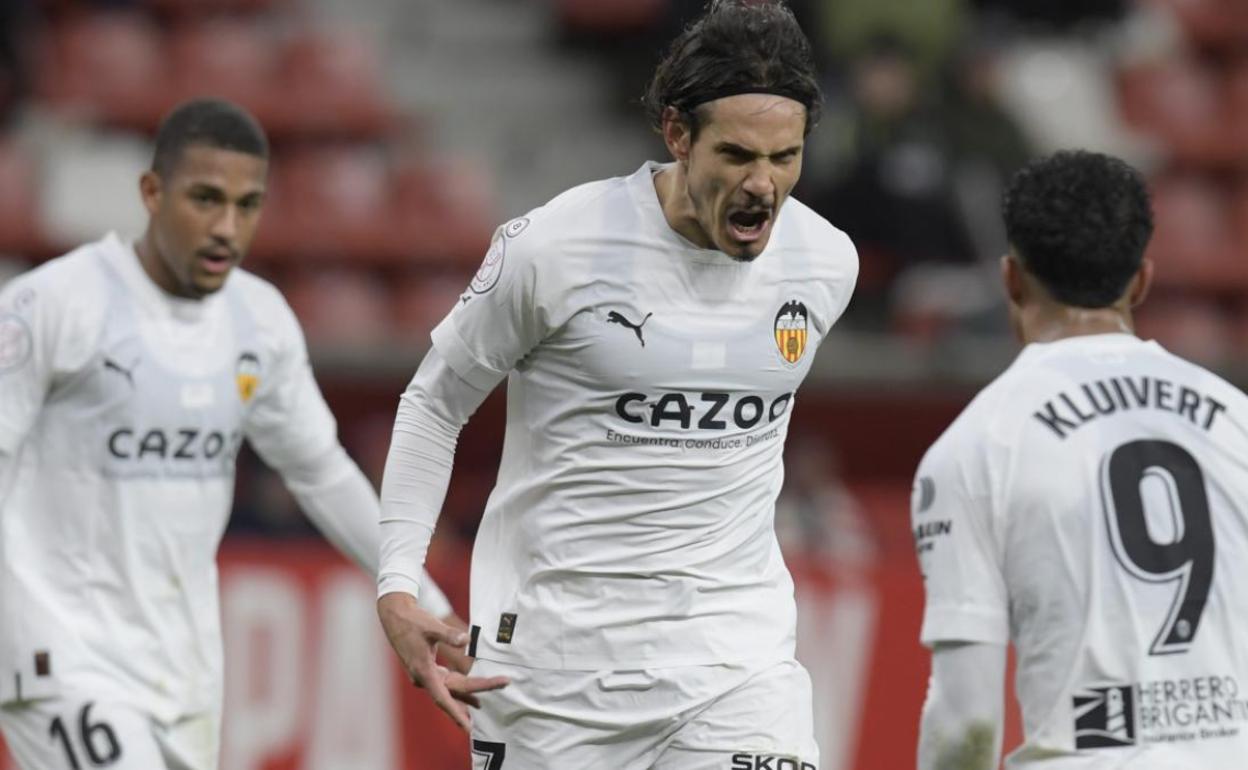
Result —
[{"label": "short-haired player on the left with 16 on his shorts", "polygon": [[237,268],[267,166],[240,107],[183,104],[140,180],[144,236],[0,291],[0,729],[26,770],[220,765],[215,558],[245,438],[376,572],[377,497],[298,323]]}]

